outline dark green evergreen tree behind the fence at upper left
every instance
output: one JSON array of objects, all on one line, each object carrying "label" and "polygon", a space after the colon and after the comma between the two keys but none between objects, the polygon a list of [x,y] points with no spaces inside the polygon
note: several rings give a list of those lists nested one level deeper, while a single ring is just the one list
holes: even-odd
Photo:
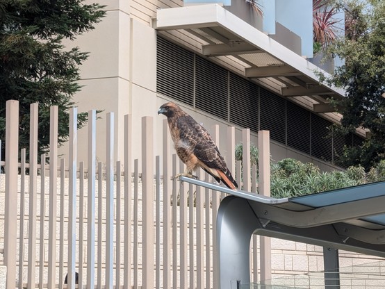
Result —
[{"label": "dark green evergreen tree behind the fence at upper left", "polygon": [[[58,144],[68,137],[69,108],[81,89],[79,65],[88,57],[63,39],[94,29],[104,6],[81,0],[0,0],[0,139],[5,140],[6,101],[19,101],[19,147],[29,145],[30,104],[39,104],[39,156],[49,151],[49,108],[59,107]],[[78,127],[85,124],[78,115]],[[2,156],[4,156],[2,145]]]}]

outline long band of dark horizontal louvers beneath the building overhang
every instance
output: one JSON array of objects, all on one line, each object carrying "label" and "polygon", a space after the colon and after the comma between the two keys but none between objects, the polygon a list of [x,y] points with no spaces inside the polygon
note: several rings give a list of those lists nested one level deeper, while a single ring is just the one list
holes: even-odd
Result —
[{"label": "long band of dark horizontal louvers beneath the building overhang", "polygon": [[305,154],[341,165],[343,146],[360,146],[350,133],[327,137],[331,122],[252,81],[158,37],[157,92],[199,108]]}]

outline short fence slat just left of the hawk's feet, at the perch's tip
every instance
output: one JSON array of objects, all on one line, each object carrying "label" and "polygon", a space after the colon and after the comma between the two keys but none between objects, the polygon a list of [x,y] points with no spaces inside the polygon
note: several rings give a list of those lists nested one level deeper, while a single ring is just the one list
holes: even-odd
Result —
[{"label": "short fence slat just left of the hawk's feet, at the perch's tip", "polygon": [[[176,176],[179,173],[177,169],[177,155],[172,155],[172,176]],[[178,206],[178,188],[177,180],[172,181],[172,288],[177,288],[178,284],[178,219],[177,219],[177,206]]]}]

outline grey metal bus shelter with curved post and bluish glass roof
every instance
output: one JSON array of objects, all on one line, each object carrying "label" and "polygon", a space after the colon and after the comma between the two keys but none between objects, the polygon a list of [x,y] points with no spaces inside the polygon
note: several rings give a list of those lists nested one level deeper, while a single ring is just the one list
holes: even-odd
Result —
[{"label": "grey metal bus shelter with curved post and bluish glass roof", "polygon": [[[253,234],[385,257],[385,181],[282,199],[186,177],[181,181],[229,194],[217,218],[221,289],[250,283]],[[338,254],[324,258],[325,272],[336,269]],[[339,288],[338,273],[333,274],[325,288]]]}]

